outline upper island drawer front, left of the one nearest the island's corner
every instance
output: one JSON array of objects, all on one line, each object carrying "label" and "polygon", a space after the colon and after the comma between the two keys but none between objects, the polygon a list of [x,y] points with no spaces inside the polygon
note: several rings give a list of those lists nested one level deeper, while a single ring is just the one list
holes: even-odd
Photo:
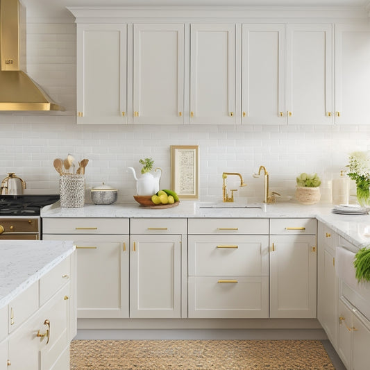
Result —
[{"label": "upper island drawer front, left of the one nearest the island's corner", "polygon": [[28,319],[39,308],[38,281],[33,283],[24,292],[14,298],[8,305],[8,332],[12,333],[16,328]]}]

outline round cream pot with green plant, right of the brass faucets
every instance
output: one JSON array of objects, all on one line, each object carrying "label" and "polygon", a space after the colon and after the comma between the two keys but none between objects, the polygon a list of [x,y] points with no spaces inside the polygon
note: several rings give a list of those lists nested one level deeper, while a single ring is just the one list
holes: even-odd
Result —
[{"label": "round cream pot with green plant, right of the brass faucets", "polygon": [[296,178],[296,200],[299,203],[310,205],[320,201],[321,180],[317,174],[300,174]]}]

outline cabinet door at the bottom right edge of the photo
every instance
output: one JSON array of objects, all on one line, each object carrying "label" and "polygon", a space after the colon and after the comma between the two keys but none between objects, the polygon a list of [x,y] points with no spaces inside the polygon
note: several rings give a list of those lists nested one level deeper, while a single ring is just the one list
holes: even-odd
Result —
[{"label": "cabinet door at the bottom right edge of the photo", "polygon": [[370,366],[370,329],[353,315],[353,370],[368,370]]}]

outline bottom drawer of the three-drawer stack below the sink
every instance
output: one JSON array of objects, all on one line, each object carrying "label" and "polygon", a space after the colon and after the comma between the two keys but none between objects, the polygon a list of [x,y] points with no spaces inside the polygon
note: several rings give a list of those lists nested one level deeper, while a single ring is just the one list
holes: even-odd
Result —
[{"label": "bottom drawer of the three-drawer stack below the sink", "polygon": [[190,276],[189,317],[269,317],[268,276]]}]

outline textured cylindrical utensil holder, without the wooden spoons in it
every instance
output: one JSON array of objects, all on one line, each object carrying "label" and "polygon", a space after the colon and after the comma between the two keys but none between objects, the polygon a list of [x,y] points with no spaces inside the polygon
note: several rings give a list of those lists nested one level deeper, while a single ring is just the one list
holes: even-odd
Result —
[{"label": "textured cylindrical utensil holder, without the wooden spoons in it", "polygon": [[85,176],[60,176],[60,207],[81,208],[85,205]]}]

